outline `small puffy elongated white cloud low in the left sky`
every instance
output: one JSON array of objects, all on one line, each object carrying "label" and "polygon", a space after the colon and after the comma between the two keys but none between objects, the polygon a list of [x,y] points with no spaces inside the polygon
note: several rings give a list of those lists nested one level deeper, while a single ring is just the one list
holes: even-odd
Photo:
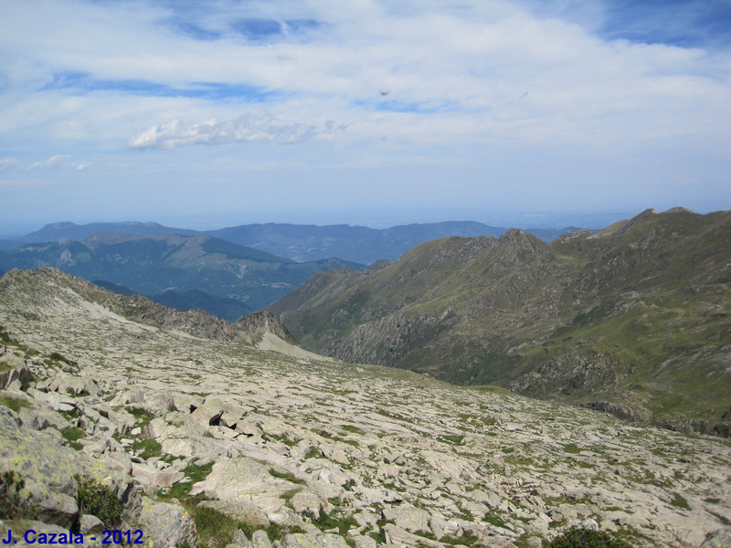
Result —
[{"label": "small puffy elongated white cloud low in the left sky", "polygon": [[276,142],[290,144],[312,137],[312,122],[282,123],[270,112],[242,114],[233,120],[190,122],[175,119],[138,133],[127,143],[131,149],[173,150],[190,144],[228,144],[231,142]]}]

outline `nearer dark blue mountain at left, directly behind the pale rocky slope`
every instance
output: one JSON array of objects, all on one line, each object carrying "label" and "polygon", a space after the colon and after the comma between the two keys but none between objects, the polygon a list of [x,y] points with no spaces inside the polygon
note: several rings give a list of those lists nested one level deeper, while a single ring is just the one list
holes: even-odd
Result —
[{"label": "nearer dark blue mountain at left, directly behind the pale rocky slope", "polygon": [[[181,309],[203,308],[230,321],[257,311],[323,269],[363,269],[339,259],[296,263],[206,235],[95,233],[83,240],[0,250],[0,269],[54,267],[102,280]],[[238,306],[236,303],[239,303]]]}]

